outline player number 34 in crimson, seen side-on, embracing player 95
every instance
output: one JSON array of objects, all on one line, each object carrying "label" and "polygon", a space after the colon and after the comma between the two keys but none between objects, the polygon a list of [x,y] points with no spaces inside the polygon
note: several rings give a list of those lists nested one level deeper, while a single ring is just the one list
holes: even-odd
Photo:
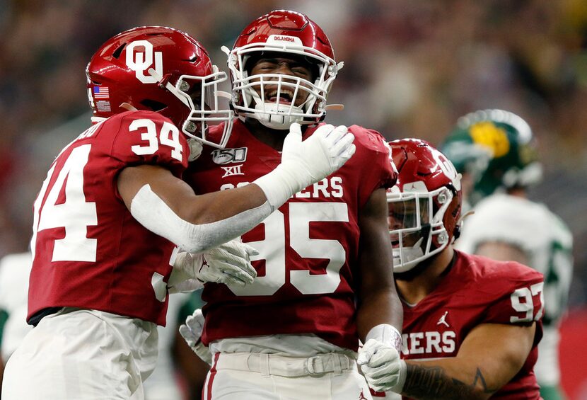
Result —
[{"label": "player number 34 in crimson, seen side-on, embracing player 95", "polygon": [[196,196],[180,179],[197,156],[187,137],[209,143],[208,122],[224,120],[222,147],[232,116],[218,108],[226,75],[206,50],[179,30],[139,27],[107,40],[86,73],[95,125],[57,156],[35,200],[36,328],[8,360],[4,399],[142,399],[168,289],[252,282],[255,252],[223,243],[354,152],[346,130],[303,142],[294,130],[263,181]]}]

